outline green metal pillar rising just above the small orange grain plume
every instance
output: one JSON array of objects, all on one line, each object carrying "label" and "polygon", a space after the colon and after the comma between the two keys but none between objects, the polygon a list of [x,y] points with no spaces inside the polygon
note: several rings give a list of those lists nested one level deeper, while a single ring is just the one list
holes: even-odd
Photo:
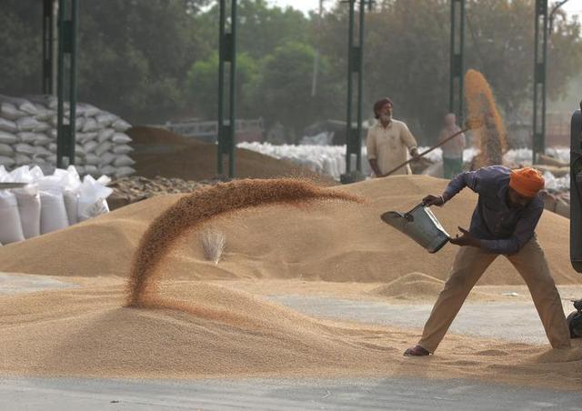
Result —
[{"label": "green metal pillar rising just above the small orange grain plume", "polygon": [[448,111],[465,121],[465,0],[451,0],[451,43]]}]

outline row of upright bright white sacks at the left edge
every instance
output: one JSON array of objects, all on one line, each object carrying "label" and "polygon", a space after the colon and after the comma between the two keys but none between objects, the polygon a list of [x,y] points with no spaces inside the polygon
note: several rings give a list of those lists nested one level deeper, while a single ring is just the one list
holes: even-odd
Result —
[{"label": "row of upright bright white sacks at the left edge", "polygon": [[75,166],[44,175],[39,166],[23,165],[12,172],[0,165],[0,183],[25,183],[0,188],[0,244],[6,245],[72,226],[109,212],[110,178],[79,177]]}]

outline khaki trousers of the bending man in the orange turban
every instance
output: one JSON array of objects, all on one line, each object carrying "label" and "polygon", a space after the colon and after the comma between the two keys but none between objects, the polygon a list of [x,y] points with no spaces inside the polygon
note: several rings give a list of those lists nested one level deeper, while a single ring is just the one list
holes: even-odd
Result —
[{"label": "khaki trousers of the bending man in the orange turban", "polygon": [[[472,246],[459,249],[445,288],[426,321],[419,346],[431,353],[435,352],[469,292],[497,256]],[[550,275],[546,256],[536,237],[529,240],[517,254],[506,257],[526,281],[549,343],[554,348],[568,348],[570,332],[564,309]],[[495,318],[491,318],[491,321],[495,321]]]}]

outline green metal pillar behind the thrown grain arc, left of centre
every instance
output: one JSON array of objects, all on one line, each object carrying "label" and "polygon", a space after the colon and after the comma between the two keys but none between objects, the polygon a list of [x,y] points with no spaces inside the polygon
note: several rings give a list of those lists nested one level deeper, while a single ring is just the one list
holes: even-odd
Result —
[{"label": "green metal pillar behind the thrown grain arc, left of centre", "polygon": [[[226,32],[226,0],[220,0],[219,61],[218,61],[218,146],[217,171],[223,175],[223,160],[228,157],[228,177],[235,176],[236,146],[236,0],[230,9],[230,33]],[[228,122],[225,121],[224,91],[226,83],[225,63],[230,63]]]}]

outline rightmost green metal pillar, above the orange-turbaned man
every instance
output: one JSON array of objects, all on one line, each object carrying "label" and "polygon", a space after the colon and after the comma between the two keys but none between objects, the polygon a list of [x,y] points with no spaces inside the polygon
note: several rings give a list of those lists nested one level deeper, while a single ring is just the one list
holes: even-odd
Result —
[{"label": "rightmost green metal pillar, above the orange-turbaned man", "polygon": [[537,155],[544,154],[546,151],[547,0],[536,0],[536,45],[534,53],[532,163],[536,163]]}]

